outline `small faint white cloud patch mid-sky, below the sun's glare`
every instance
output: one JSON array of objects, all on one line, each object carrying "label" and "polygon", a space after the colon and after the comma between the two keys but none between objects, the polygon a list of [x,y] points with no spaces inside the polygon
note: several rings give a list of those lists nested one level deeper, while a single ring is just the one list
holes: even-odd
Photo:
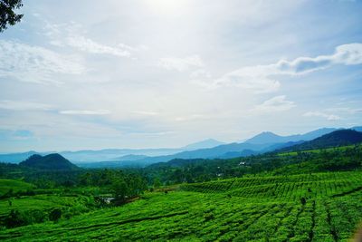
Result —
[{"label": "small faint white cloud patch mid-sky, below the sun's glare", "polygon": [[161,58],[157,65],[167,70],[176,70],[178,72],[183,72],[193,67],[204,67],[205,63],[203,62],[203,60],[201,60],[200,56],[191,55],[185,58]]}]

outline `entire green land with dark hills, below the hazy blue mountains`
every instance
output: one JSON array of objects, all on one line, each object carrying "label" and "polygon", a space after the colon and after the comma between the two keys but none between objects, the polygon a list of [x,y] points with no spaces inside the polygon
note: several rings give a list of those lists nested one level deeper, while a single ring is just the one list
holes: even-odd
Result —
[{"label": "entire green land with dark hills, below the hazy blue mountains", "polygon": [[361,137],[139,169],[79,169],[60,154],[0,164],[0,239],[348,241],[362,221]]}]

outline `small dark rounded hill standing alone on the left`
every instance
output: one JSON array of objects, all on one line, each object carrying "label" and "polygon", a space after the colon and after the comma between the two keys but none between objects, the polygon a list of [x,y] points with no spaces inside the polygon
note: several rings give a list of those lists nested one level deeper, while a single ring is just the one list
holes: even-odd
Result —
[{"label": "small dark rounded hill standing alone on the left", "polygon": [[28,159],[20,162],[20,166],[34,169],[52,169],[52,170],[73,170],[79,169],[71,161],[66,160],[60,154],[53,153],[46,156],[34,154]]}]

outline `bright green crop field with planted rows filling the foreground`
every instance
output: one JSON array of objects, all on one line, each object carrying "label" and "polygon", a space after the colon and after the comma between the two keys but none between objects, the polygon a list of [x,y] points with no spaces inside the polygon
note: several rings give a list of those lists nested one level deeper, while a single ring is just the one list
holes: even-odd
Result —
[{"label": "bright green crop field with planted rows filling the foreground", "polygon": [[0,231],[4,241],[348,241],[362,172],[226,179],[148,192],[115,208]]}]

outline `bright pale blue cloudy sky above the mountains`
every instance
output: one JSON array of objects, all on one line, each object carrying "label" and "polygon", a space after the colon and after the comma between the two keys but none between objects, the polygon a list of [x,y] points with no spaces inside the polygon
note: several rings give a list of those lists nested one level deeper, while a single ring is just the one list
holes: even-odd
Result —
[{"label": "bright pale blue cloudy sky above the mountains", "polygon": [[362,1],[28,1],[0,33],[0,152],[362,125]]}]

